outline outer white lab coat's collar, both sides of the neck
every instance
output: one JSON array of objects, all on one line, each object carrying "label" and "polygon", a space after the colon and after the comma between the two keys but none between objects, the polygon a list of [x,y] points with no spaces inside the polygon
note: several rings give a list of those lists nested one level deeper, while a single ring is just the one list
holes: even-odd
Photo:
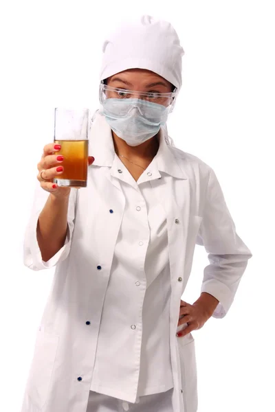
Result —
[{"label": "outer white lab coat's collar, both sides of the neck", "polygon": [[[184,155],[184,153],[182,153]],[[91,126],[89,137],[89,156],[95,158],[94,166],[113,166],[115,148],[111,128],[104,115],[96,113]],[[164,172],[178,179],[187,179],[186,174],[179,168],[173,148],[168,144],[168,136],[164,128],[160,128],[159,150],[153,159],[157,163],[159,172]]]}]

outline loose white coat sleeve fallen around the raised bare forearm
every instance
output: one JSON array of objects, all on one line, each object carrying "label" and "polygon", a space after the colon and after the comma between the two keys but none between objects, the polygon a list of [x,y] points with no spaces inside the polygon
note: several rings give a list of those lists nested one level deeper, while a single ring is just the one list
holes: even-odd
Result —
[{"label": "loose white coat sleeve fallen around the raised bare forearm", "polygon": [[72,188],[69,194],[69,206],[67,217],[67,236],[63,247],[47,262],[44,262],[41,257],[41,251],[36,238],[36,227],[39,219],[39,215],[47,198],[49,192],[43,190],[38,182],[34,194],[34,203],[32,206],[32,212],[28,222],[28,226],[25,230],[25,238],[23,242],[23,262],[25,266],[33,271],[41,271],[42,269],[52,268],[56,266],[58,262],[62,262],[69,255],[72,242],[72,234],[74,231],[74,212],[76,205],[77,189]]}]

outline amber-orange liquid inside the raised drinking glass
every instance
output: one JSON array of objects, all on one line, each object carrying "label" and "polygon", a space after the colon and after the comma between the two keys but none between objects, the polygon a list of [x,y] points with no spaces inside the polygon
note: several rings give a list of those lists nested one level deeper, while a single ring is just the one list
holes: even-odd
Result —
[{"label": "amber-orange liquid inside the raised drinking glass", "polygon": [[56,155],[64,156],[61,163],[64,172],[58,174],[56,179],[87,181],[88,140],[55,140],[54,143],[61,145]]}]

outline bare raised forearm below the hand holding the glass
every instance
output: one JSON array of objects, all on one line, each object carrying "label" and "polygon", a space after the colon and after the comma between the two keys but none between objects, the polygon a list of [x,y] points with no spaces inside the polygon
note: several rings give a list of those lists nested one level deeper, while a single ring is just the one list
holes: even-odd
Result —
[{"label": "bare raised forearm below the hand holding the glass", "polygon": [[36,236],[44,262],[63,247],[67,234],[69,196],[56,198],[52,194],[39,215]]}]

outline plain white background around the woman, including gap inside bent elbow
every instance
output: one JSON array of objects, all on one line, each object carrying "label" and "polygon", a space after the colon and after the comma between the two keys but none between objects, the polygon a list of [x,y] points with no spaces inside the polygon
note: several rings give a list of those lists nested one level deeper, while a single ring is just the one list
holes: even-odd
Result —
[{"label": "plain white background around the woman, including gap inside bent elbow", "polygon": [[[22,260],[36,164],[53,139],[53,108],[97,108],[104,36],[124,16],[143,13],[173,23],[185,50],[170,136],[214,169],[253,253],[228,315],[194,332],[199,412],[275,410],[273,7],[265,0],[1,3],[1,411],[20,412],[53,277]],[[183,296],[190,303],[207,264],[197,246]]]}]

